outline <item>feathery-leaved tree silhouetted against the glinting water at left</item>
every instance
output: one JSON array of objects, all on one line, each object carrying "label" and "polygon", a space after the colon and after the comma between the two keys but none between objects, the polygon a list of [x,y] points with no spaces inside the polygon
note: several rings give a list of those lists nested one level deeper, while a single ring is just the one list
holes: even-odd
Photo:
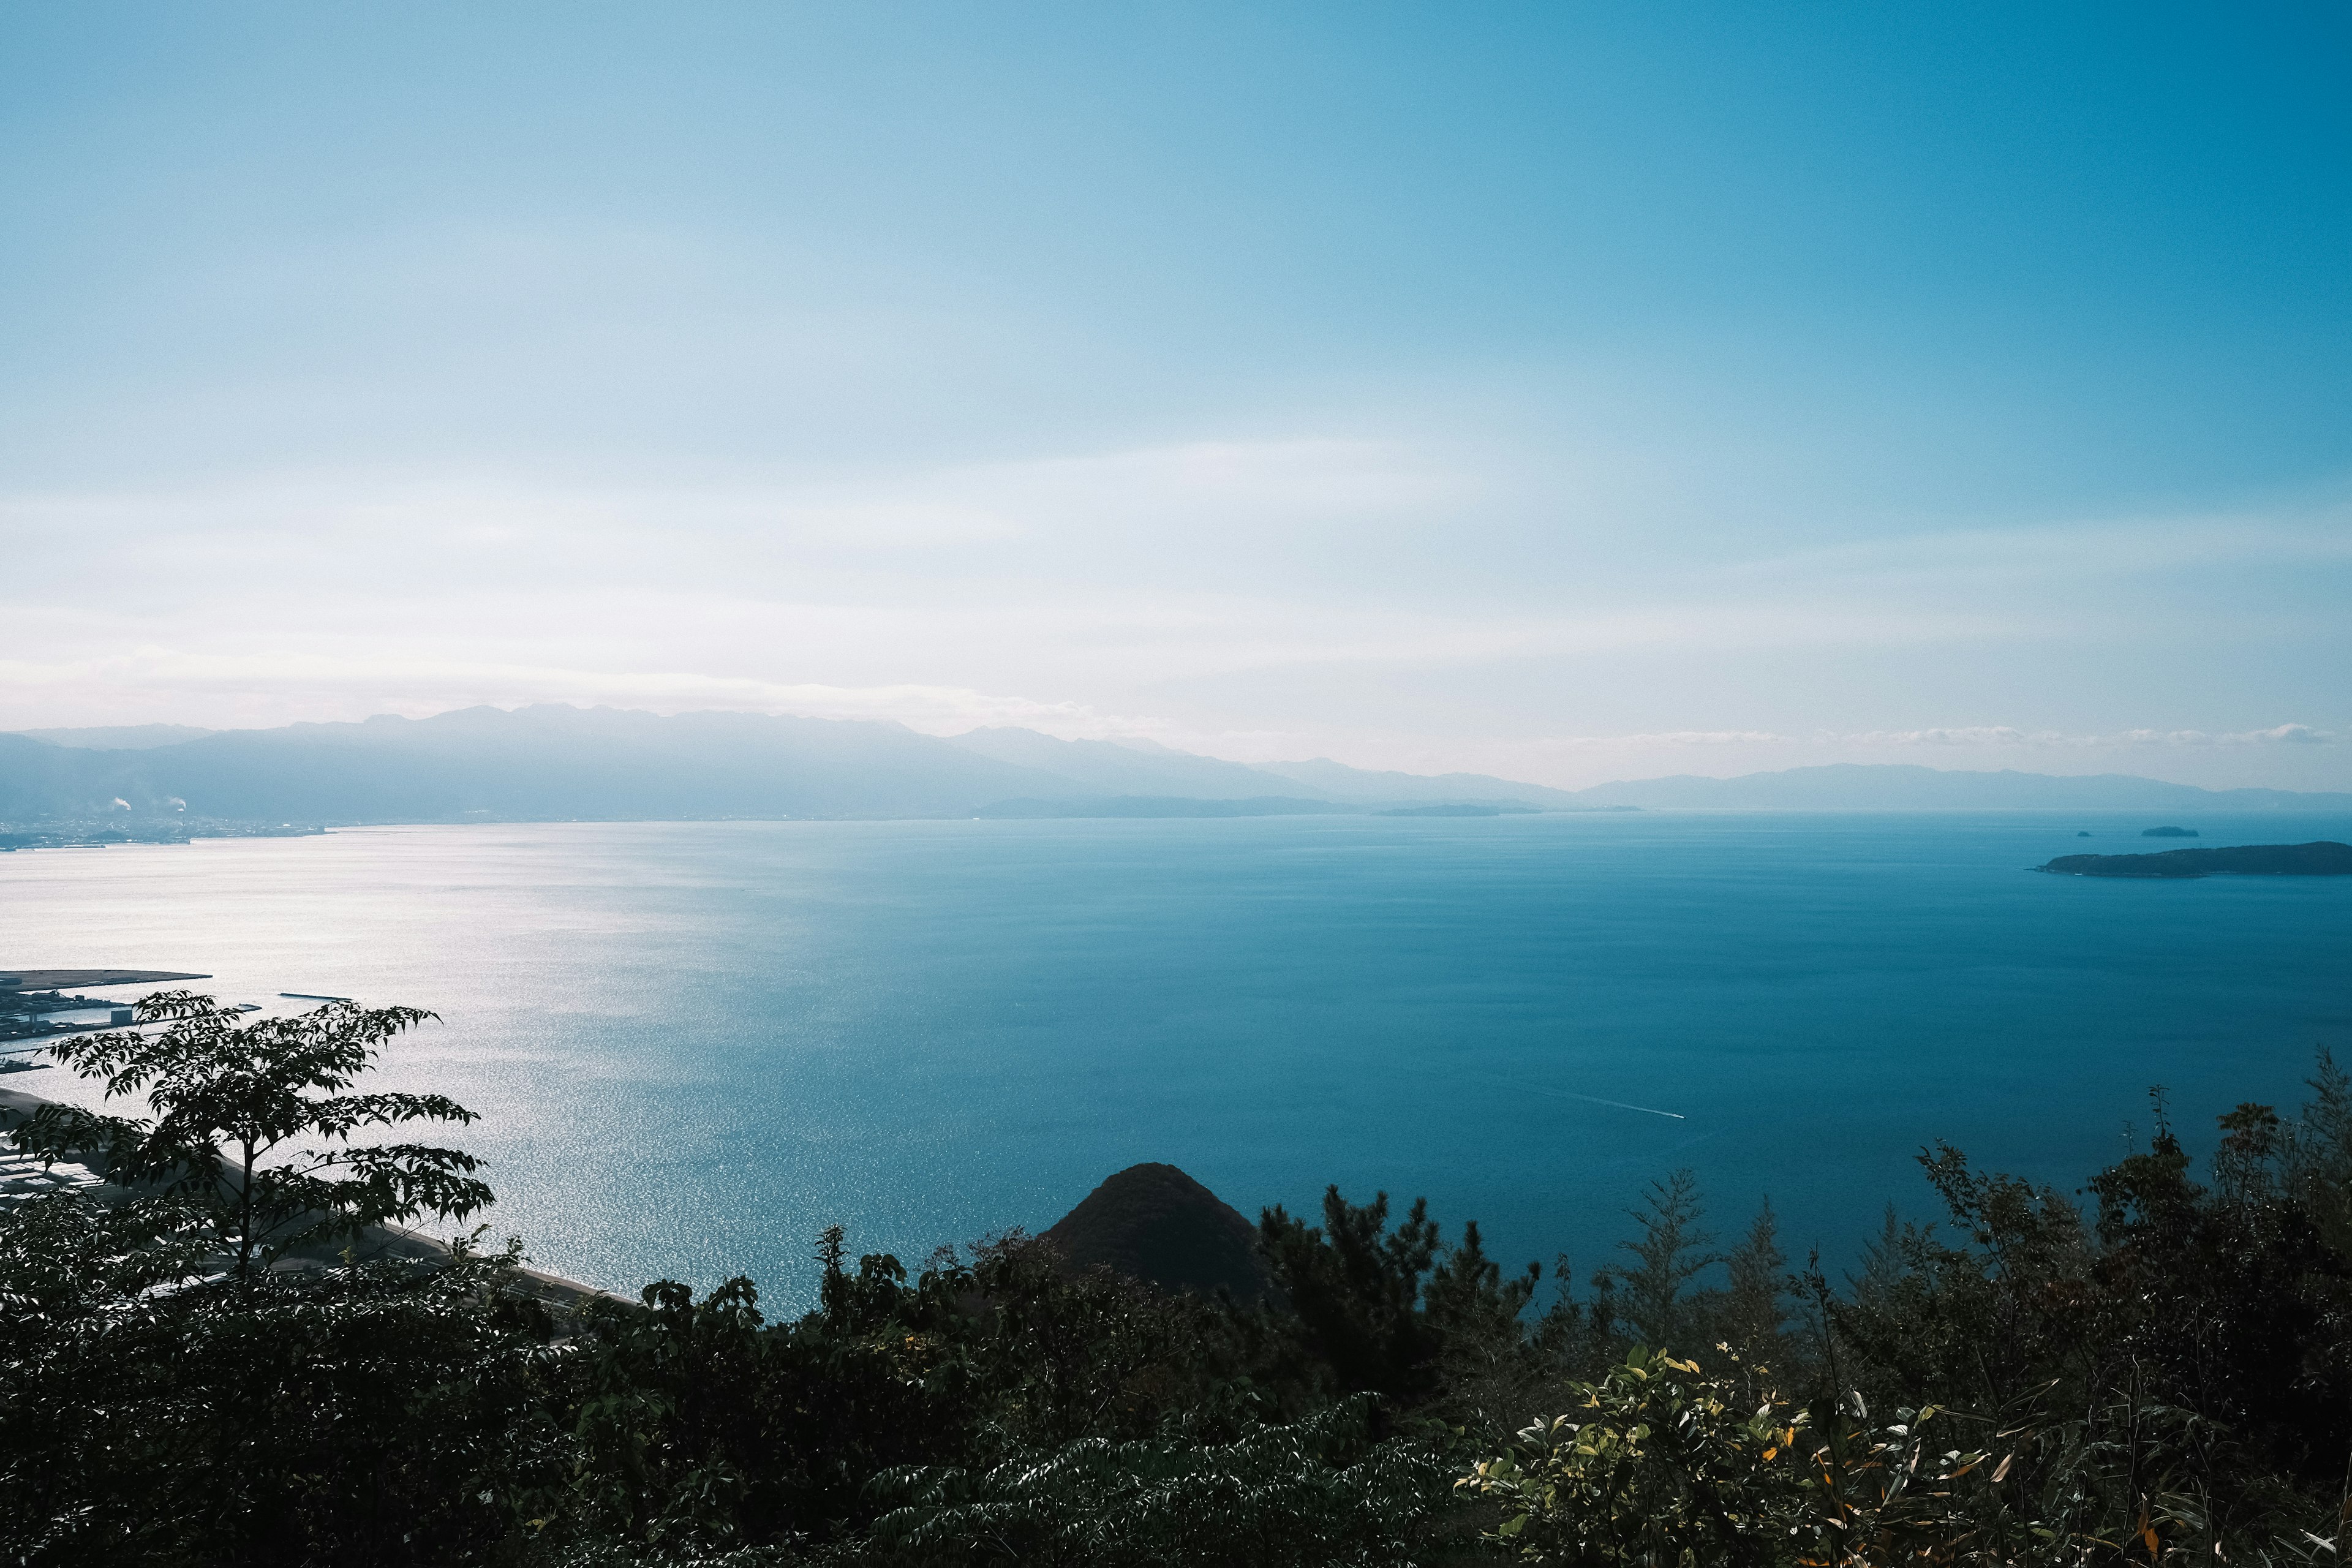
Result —
[{"label": "feathery-leaved tree silhouetted against the glinting water at left", "polygon": [[[477,1159],[416,1143],[353,1143],[376,1126],[473,1121],[445,1095],[346,1093],[386,1041],[428,1018],[409,1006],[334,1001],[245,1023],[212,997],[155,992],[139,1004],[139,1023],[165,1030],[71,1034],[49,1046],[66,1067],[103,1079],[108,1100],[143,1093],[155,1114],[45,1105],[14,1140],[42,1159],[96,1154],[108,1180],[169,1194],[238,1279],[287,1248],[367,1225],[466,1218],[492,1199],[473,1178]],[[294,1147],[301,1138],[322,1145]]]}]

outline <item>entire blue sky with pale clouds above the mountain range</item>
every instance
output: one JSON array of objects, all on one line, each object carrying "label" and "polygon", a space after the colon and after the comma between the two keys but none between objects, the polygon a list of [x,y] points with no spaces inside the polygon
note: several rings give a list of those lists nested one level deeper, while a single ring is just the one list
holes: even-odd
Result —
[{"label": "entire blue sky with pale clouds above the mountain range", "polygon": [[0,726],[2352,788],[2352,19],[0,7]]}]

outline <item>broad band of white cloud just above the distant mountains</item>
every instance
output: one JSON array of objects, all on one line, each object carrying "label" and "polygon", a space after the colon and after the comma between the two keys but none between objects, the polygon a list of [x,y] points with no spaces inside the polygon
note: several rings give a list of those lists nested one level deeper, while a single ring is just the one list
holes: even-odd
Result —
[{"label": "broad band of white cloud just above the distant mountains", "polygon": [[[2272,677],[2326,670],[2340,642],[2324,628],[2293,661],[2274,651],[2352,559],[2340,508],[1740,564],[1757,531],[1733,545],[1731,524],[1543,491],[1541,465],[1489,456],[1390,428],[708,482],[294,473],[0,496],[16,567],[0,726],[569,701],[1432,771],[1931,752],[2169,752],[2281,780],[2352,766],[2321,679]],[[2239,567],[2274,592],[2204,592]],[[2150,571],[2176,576],[2124,581]],[[2204,637],[2209,611],[2241,618],[2234,644]],[[2237,649],[2213,705],[2310,722],[2093,729],[2211,722],[2164,701],[2194,689],[2176,649],[2209,644]],[[1922,710],[2027,722],[1860,726]]]}]

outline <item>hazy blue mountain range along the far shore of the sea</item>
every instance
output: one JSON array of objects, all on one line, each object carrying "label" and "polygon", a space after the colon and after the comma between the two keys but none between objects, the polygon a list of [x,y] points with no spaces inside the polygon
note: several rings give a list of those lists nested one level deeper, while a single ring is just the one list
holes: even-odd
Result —
[{"label": "hazy blue mountain range along the far shore of the sea", "polygon": [[1249,766],[1148,741],[1056,741],[1028,729],[938,738],[851,719],[564,705],[285,729],[0,733],[0,820],[14,823],[1268,816],[1399,806],[2352,811],[2352,795],[1858,764],[1550,790],[1329,759]]}]

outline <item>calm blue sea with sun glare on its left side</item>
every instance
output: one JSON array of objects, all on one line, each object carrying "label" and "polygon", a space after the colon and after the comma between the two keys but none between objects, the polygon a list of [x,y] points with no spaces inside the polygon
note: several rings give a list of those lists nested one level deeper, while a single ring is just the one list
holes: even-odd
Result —
[{"label": "calm blue sea with sun glare on its left side", "polygon": [[[2352,1053],[2352,879],[2034,877],[2114,816],[379,827],[0,856],[0,961],[440,1011],[496,1229],[635,1288],[811,1293],[1164,1159],[1249,1215],[1428,1194],[1609,1260],[1693,1166],[1851,1258],[1933,1138],[2067,1187]],[[2352,820],[2199,818],[2201,844]],[[2077,839],[2089,827],[2093,839]],[[59,1072],[7,1079],[66,1093]],[[1653,1112],[1675,1112],[1663,1117]]]}]

